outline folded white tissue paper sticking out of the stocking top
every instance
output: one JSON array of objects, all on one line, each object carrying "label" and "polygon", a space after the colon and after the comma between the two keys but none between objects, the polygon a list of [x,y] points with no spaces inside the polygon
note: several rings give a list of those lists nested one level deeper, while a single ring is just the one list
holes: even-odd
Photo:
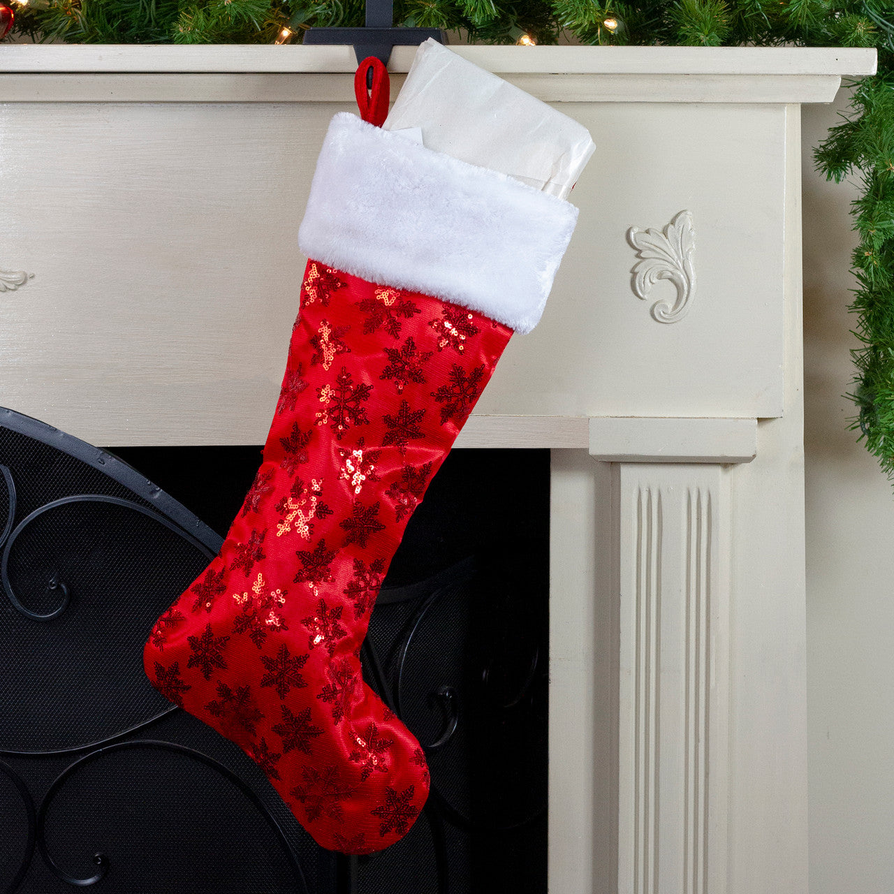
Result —
[{"label": "folded white tissue paper sticking out of the stocking top", "polygon": [[[532,50],[531,52],[536,52]],[[566,198],[595,146],[582,124],[428,38],[383,125]]]}]

